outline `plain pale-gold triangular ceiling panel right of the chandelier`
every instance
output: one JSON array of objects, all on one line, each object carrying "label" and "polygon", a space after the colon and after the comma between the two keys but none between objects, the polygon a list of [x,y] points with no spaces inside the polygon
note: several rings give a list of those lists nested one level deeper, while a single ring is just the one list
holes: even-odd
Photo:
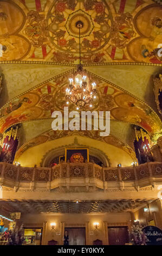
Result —
[{"label": "plain pale-gold triangular ceiling panel right of the chandelier", "polygon": [[104,65],[87,66],[86,69],[94,74],[100,74],[109,82],[118,86],[128,93],[145,101],[154,111],[157,106],[153,97],[153,75],[161,71],[159,66],[140,65]]}]

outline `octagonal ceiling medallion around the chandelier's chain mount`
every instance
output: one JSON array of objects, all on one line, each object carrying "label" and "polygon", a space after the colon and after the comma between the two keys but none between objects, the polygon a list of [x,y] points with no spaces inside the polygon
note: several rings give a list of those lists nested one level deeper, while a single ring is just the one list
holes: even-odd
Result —
[{"label": "octagonal ceiling medallion around the chandelier's chain mount", "polygon": [[94,29],[92,18],[85,11],[78,10],[70,14],[66,22],[66,29],[69,35],[79,38],[78,29],[76,27],[77,22],[82,22],[81,38],[90,35]]}]

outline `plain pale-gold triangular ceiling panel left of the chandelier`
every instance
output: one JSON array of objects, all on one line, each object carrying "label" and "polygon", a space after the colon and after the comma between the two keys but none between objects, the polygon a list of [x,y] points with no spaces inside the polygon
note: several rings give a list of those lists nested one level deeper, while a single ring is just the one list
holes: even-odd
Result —
[{"label": "plain pale-gold triangular ceiling panel left of the chandelier", "polygon": [[[1,58],[0,58],[1,59]],[[11,101],[17,95],[33,88],[38,83],[72,69],[70,66],[39,65],[34,64],[1,64],[0,72],[3,74],[3,96],[0,107]]]}]

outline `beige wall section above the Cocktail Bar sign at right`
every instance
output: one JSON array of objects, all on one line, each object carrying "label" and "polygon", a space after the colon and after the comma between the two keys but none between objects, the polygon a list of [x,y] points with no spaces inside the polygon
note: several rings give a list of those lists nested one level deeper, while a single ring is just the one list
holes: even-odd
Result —
[{"label": "beige wall section above the Cocktail Bar sign at right", "polygon": [[144,206],[144,208],[141,208],[140,210],[134,212],[135,220],[139,220],[141,224],[147,224],[147,221],[154,220],[155,225],[162,229],[162,200],[157,199],[154,200],[152,203],[148,204],[148,207],[150,209],[150,214],[148,217],[144,216],[144,208],[147,207]]}]

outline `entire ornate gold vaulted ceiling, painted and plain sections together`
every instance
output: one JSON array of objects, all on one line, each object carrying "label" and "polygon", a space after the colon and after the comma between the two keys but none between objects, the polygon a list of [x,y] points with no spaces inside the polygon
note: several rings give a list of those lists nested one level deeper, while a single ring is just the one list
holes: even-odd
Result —
[{"label": "entire ornate gold vaulted ceiling, painted and plain sections together", "polygon": [[66,106],[69,72],[79,63],[75,23],[81,20],[81,60],[98,89],[93,109],[111,111],[111,135],[78,131],[77,136],[85,144],[89,138],[113,145],[134,161],[133,126],[151,137],[162,129],[152,80],[162,65],[161,17],[161,6],[152,0],[2,0],[0,132],[22,124],[16,159],[43,143],[54,141],[49,150],[59,147],[60,138],[73,136],[51,130],[51,113]]}]

